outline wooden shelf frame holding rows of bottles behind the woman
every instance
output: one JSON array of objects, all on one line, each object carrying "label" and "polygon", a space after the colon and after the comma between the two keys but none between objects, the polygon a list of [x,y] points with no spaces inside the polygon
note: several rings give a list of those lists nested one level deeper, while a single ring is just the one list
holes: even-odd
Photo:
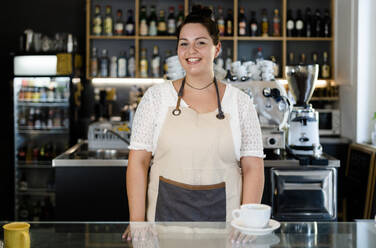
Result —
[{"label": "wooden shelf frame holding rows of bottles behind the woman", "polygon": [[[158,44],[157,41],[164,41],[164,40],[171,40],[176,41],[176,36],[140,36],[140,25],[139,25],[139,11],[140,11],[140,4],[141,0],[133,0],[134,1],[134,22],[135,22],[135,35],[134,36],[95,36],[91,35],[91,13],[92,10],[92,4],[94,4],[93,0],[86,0],[86,78],[90,79],[90,53],[91,53],[91,47],[95,45],[95,41],[97,40],[132,40],[134,41],[134,47],[135,47],[135,72],[136,76],[135,78],[139,78],[139,62],[140,62],[140,50],[141,50],[141,41],[144,40],[153,40]],[[315,0],[309,0],[314,2]],[[110,1],[111,2],[111,1]],[[189,8],[192,4],[192,1],[190,0],[183,0],[184,2],[184,13],[187,15],[189,13]],[[288,0],[281,0],[280,5],[280,17],[281,17],[281,36],[280,37],[250,37],[250,36],[238,36],[238,9],[239,9],[239,0],[233,0],[233,28],[234,28],[234,36],[221,36],[221,41],[233,41],[231,46],[232,47],[232,59],[233,61],[237,61],[239,59],[239,44],[241,43],[244,45],[245,42],[249,41],[258,41],[258,42],[270,42],[270,41],[276,41],[281,42],[281,44],[275,44],[278,49],[281,50],[279,63],[281,68],[284,68],[287,65],[288,61],[288,53],[290,52],[289,46],[291,46],[291,42],[323,42],[325,46],[327,46],[326,50],[329,52],[329,63],[331,65],[331,71],[335,71],[335,0],[329,0],[328,4],[325,6],[326,8],[330,9],[330,16],[332,19],[331,23],[331,31],[332,31],[332,37],[287,37],[286,32],[286,21],[287,21],[287,10],[288,10]],[[173,3],[173,1],[171,1]],[[111,3],[109,3],[111,4]],[[242,5],[245,5],[244,2],[242,2]],[[265,2],[265,5],[267,5],[267,2]],[[324,8],[324,6],[323,6]],[[271,20],[270,20],[271,21]],[[271,23],[270,23],[271,24]],[[326,43],[325,43],[326,42]],[[269,45],[269,44],[267,44]],[[250,44],[252,46],[252,44]],[[280,47],[280,48],[279,48]],[[298,55],[296,56],[298,57]],[[285,78],[285,72],[282,70],[282,77]],[[326,80],[333,80],[333,79],[326,79]]]}]

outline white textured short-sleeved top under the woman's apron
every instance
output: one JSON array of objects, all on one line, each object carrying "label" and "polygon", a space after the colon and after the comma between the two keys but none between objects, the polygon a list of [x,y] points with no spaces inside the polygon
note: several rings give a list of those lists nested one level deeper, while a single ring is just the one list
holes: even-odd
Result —
[{"label": "white textured short-sleeved top under the woman's apron", "polygon": [[[145,92],[132,123],[129,149],[154,152],[169,107],[175,107],[178,94],[172,81],[157,84]],[[252,99],[231,85],[226,86],[222,110],[230,115],[236,158],[264,157],[260,123]],[[182,107],[189,107],[181,100]]]}]

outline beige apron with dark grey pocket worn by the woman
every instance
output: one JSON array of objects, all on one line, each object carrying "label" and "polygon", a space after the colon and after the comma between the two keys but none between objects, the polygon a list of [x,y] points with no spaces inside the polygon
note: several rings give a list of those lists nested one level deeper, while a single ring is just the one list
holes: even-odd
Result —
[{"label": "beige apron with dark grey pocket worn by the woman", "polygon": [[230,221],[241,204],[242,176],[230,116],[170,107],[150,170],[148,221]]}]

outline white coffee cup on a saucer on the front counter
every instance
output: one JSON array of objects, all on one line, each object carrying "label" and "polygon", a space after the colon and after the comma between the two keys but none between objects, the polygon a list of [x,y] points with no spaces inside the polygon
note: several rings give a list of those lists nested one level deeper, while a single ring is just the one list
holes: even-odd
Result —
[{"label": "white coffee cup on a saucer on the front counter", "polygon": [[270,219],[271,207],[265,204],[244,204],[232,211],[239,224],[249,228],[263,228]]}]

